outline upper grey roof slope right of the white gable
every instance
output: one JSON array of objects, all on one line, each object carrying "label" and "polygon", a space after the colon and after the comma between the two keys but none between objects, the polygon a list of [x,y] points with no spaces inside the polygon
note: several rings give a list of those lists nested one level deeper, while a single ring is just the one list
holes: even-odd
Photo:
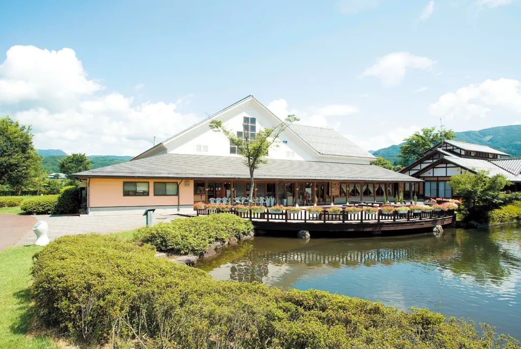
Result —
[{"label": "upper grey roof slope right of the white gable", "polygon": [[291,125],[290,128],[319,154],[376,159],[373,154],[358,147],[332,128],[296,124]]}]

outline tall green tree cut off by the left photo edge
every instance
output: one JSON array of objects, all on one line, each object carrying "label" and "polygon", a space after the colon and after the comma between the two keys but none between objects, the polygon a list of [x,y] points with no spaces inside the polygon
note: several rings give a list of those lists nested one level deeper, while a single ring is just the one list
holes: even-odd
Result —
[{"label": "tall green tree cut off by the left photo edge", "polygon": [[20,191],[41,175],[42,159],[32,143],[30,125],[0,118],[0,184]]}]

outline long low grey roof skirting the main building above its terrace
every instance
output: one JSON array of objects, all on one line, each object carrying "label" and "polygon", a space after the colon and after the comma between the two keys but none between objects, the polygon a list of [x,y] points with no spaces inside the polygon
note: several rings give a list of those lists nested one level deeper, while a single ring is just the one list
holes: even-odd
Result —
[{"label": "long low grey roof skirting the main building above its terrace", "polygon": [[[162,154],[76,173],[77,177],[250,178],[240,157]],[[257,179],[381,180],[421,182],[421,179],[376,165],[337,162],[268,160],[255,171]]]}]

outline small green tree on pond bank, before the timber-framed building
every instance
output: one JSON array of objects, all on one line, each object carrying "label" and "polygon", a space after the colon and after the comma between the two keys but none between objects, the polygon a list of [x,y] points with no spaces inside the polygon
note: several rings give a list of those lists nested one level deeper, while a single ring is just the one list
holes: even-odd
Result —
[{"label": "small green tree on pond bank, before the timber-framed building", "polygon": [[489,172],[480,170],[476,174],[464,172],[454,175],[449,185],[454,195],[460,196],[463,202],[460,211],[467,221],[486,221],[488,213],[499,208],[503,203],[501,192],[510,184],[501,174],[489,177]]}]

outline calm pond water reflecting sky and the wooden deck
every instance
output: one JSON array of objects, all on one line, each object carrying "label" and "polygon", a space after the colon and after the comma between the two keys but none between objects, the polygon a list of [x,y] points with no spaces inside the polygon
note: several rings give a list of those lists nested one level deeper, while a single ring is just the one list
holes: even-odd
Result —
[{"label": "calm pond water reflecting sky and the wooden deck", "polygon": [[521,338],[521,229],[445,229],[449,235],[312,239],[255,237],[197,263],[216,279],[262,281],[425,307]]}]

